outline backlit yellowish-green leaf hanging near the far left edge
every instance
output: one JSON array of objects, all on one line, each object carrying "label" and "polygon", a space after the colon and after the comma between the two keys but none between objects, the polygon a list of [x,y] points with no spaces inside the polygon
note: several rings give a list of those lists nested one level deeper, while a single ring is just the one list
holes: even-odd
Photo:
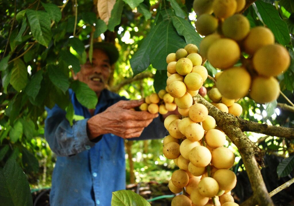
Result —
[{"label": "backlit yellowish-green leaf hanging near the far left edge", "polygon": [[26,87],[28,81],[28,70],[21,59],[14,60],[14,66],[11,71],[10,84],[16,91]]}]

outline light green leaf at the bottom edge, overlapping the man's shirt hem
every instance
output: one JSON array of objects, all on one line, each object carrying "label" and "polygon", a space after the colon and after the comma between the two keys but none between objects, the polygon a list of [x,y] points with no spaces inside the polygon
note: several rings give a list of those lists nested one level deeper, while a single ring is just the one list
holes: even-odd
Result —
[{"label": "light green leaf at the bottom edge, overlapping the man's shirt hem", "polygon": [[118,190],[112,193],[111,206],[150,206],[143,197],[131,190]]}]

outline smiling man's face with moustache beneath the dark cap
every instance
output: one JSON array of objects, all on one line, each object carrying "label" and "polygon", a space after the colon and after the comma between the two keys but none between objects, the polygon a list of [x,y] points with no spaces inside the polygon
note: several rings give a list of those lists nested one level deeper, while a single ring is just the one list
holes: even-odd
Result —
[{"label": "smiling man's face with moustache beneath the dark cap", "polygon": [[105,88],[110,68],[108,55],[102,50],[93,49],[92,65],[87,60],[84,65],[81,65],[81,70],[74,76],[74,79],[86,83],[99,96]]}]

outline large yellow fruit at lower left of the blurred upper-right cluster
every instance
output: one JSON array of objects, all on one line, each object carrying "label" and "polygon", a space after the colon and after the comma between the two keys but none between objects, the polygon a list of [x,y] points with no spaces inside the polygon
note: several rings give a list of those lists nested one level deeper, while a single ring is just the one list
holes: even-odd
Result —
[{"label": "large yellow fruit at lower left of the blurred upper-right cluster", "polygon": [[251,84],[251,76],[243,67],[232,67],[225,70],[216,82],[220,93],[228,99],[245,97]]}]

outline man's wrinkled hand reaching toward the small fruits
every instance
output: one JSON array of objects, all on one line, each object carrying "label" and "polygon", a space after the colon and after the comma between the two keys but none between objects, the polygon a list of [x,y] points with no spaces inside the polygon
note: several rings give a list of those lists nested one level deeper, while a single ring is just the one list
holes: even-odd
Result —
[{"label": "man's wrinkled hand reaching toward the small fruits", "polygon": [[124,139],[138,137],[158,114],[131,110],[144,100],[119,101],[104,112],[96,114],[87,122],[89,139],[112,133]]}]

